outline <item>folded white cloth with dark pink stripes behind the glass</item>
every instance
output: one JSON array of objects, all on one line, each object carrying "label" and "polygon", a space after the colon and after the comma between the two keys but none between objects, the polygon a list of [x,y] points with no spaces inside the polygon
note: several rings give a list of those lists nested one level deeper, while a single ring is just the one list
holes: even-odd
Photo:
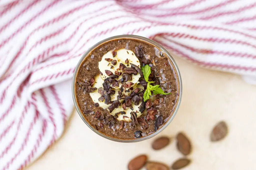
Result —
[{"label": "folded white cloth with dark pink stripes behind the glass", "polygon": [[0,2],[0,169],[22,169],[62,134],[78,60],[104,38],[136,34],[209,69],[256,83],[250,0]]}]

